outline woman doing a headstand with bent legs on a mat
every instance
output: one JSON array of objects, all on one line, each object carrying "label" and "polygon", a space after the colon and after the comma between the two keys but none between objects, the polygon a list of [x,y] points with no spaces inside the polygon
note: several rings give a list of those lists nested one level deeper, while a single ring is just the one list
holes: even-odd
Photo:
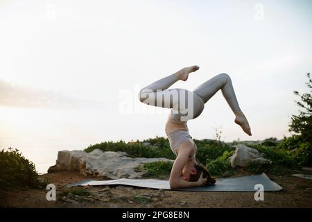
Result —
[{"label": "woman doing a headstand with bent legs on a mat", "polygon": [[200,187],[216,182],[214,178],[211,178],[207,169],[196,161],[197,146],[189,135],[187,121],[198,117],[204,110],[205,103],[219,89],[236,116],[234,122],[239,124],[245,133],[252,135],[248,121],[239,108],[229,75],[214,76],[193,92],[187,89],[168,89],[177,80],[186,81],[189,74],[198,69],[198,66],[186,67],[175,74],[157,80],[139,92],[139,100],[142,103],[171,109],[165,132],[171,150],[177,155],[169,179],[173,189]]}]

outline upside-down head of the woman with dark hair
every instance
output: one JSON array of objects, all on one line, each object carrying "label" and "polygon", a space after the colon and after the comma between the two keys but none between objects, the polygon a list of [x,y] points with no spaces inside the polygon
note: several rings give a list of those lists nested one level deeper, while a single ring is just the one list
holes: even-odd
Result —
[{"label": "upside-down head of the woman with dark hair", "polygon": [[191,182],[197,181],[200,178],[201,174],[203,178],[207,178],[206,185],[211,185],[216,182],[214,178],[211,178],[211,175],[207,168],[196,161],[191,162],[191,164],[186,164],[182,171],[182,176],[184,180],[188,180]]}]

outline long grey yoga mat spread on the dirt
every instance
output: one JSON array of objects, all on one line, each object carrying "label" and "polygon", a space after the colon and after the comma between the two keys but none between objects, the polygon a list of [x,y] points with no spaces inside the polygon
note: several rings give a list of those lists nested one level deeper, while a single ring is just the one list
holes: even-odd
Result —
[{"label": "long grey yoga mat spread on the dirt", "polygon": [[[83,180],[78,183],[69,184],[67,187],[77,186],[105,186],[105,185],[126,185],[131,187],[144,187],[152,189],[171,189],[168,180],[155,179],[118,179],[118,180]],[[171,189],[180,191],[257,191],[255,185],[263,185],[263,191],[279,191],[283,187],[279,186],[266,176],[266,173],[255,176],[243,176],[239,178],[223,178],[216,180],[215,185],[207,187],[191,187],[186,189]]]}]

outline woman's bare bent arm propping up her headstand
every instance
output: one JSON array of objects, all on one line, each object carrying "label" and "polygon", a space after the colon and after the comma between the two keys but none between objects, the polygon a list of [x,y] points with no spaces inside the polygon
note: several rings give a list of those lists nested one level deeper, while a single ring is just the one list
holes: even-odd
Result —
[{"label": "woman's bare bent arm propping up her headstand", "polygon": [[192,148],[189,146],[188,143],[182,144],[180,148],[180,152],[177,155],[177,158],[175,159],[175,162],[173,163],[173,167],[171,169],[171,174],[170,174],[170,187],[172,189],[177,189],[177,188],[187,188],[187,187],[200,187],[204,185],[206,179],[202,178],[200,176],[200,179],[196,182],[190,182],[187,180],[183,180],[181,178],[181,173],[182,169],[189,160],[189,155],[192,151]]}]

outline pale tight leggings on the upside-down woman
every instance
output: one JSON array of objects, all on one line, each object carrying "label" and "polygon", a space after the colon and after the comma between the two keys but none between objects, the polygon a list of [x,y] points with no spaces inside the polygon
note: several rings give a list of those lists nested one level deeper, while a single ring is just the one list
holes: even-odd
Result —
[{"label": "pale tight leggings on the upside-down woman", "polygon": [[193,92],[187,89],[168,89],[177,80],[179,79],[175,74],[171,74],[144,87],[139,92],[139,101],[148,105],[170,108],[173,120],[186,122],[198,117],[204,110],[205,103],[221,89],[234,114],[241,112],[229,75],[218,74],[196,87]]}]

